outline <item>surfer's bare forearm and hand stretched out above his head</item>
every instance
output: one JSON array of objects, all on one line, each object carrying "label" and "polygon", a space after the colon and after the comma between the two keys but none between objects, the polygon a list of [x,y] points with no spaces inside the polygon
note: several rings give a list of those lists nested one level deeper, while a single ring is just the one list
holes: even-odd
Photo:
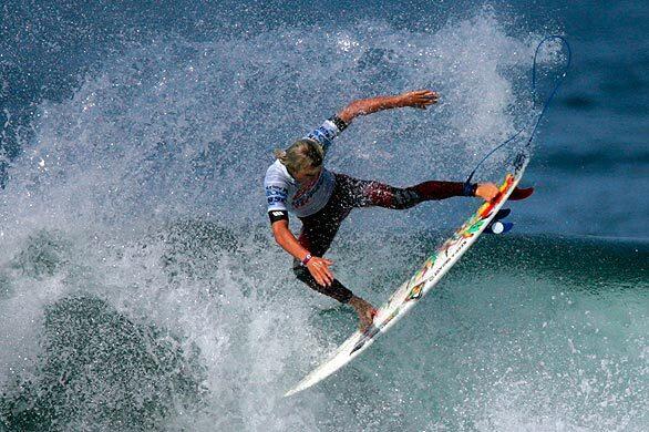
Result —
[{"label": "surfer's bare forearm and hand stretched out above his head", "polygon": [[425,110],[426,106],[436,103],[439,99],[437,93],[431,90],[418,90],[414,92],[406,92],[393,96],[377,96],[370,99],[360,99],[351,102],[337,116],[346,124],[359,115],[368,115],[383,110],[391,110],[395,107],[412,106]]}]

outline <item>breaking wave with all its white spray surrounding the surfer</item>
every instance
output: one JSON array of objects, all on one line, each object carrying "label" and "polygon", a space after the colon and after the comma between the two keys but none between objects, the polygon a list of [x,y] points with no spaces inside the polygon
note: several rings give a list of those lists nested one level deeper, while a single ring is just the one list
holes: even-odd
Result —
[{"label": "breaking wave with all its white spray surrounding the surfer", "polygon": [[[363,119],[330,166],[460,179],[534,114],[539,38],[488,10],[352,21],[165,33],[35,102],[0,195],[0,429],[647,429],[638,239],[485,236],[367,354],[281,398],[356,322],[258,225],[271,150],[349,97],[434,86],[434,117]],[[337,275],[384,301],[447,234],[421,227],[464,208],[352,215]]]}]

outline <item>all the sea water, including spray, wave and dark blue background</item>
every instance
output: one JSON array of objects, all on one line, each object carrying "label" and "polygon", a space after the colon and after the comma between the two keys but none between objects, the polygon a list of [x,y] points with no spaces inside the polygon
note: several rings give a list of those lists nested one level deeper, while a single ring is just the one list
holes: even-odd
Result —
[{"label": "all the sea water, including spray, wave and dark blue background", "polygon": [[[0,431],[649,429],[643,2],[0,7]],[[514,232],[284,399],[356,319],[275,245],[271,151],[351,99],[431,88],[426,112],[354,122],[328,166],[463,179],[538,115],[547,34],[573,68]],[[543,50],[540,93],[564,62]],[[334,270],[379,305],[475,205],[354,213]]]}]

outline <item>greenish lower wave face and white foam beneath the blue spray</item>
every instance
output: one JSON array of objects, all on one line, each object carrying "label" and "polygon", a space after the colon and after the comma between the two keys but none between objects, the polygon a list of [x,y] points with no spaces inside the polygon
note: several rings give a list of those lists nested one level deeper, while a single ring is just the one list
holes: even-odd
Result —
[{"label": "greenish lower wave face and white foam beneath the blue spray", "polygon": [[[379,248],[346,235],[337,274],[383,301],[442,238],[423,234],[383,233]],[[37,341],[27,367],[2,354],[7,430],[646,424],[642,240],[484,236],[372,350],[289,400],[356,322],[292,279],[265,226],[184,220],[127,245],[76,241],[38,233],[0,268],[3,322]],[[28,294],[41,312],[17,309]]]}]

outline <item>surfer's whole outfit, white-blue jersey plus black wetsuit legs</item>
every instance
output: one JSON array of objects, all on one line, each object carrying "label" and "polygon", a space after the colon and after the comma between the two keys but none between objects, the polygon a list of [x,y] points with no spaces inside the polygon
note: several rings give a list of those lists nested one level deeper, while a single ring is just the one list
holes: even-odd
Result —
[{"label": "surfer's whole outfit, white-blue jersey plus black wetsuit legs", "polygon": [[[332,140],[346,127],[343,121],[333,116],[305,138],[317,141],[327,152]],[[425,182],[399,188],[331,173],[326,168],[312,184],[300,185],[280,161],[270,165],[264,185],[270,223],[288,219],[289,209],[295,213],[302,222],[298,241],[316,257],[322,257],[329,249],[340,224],[352,208],[378,206],[403,209],[424,200],[473,196],[475,193],[475,185],[457,182]],[[330,286],[319,285],[298,259],[293,261],[293,271],[309,287],[338,301],[348,302],[352,297],[352,292],[338,279]]]}]

